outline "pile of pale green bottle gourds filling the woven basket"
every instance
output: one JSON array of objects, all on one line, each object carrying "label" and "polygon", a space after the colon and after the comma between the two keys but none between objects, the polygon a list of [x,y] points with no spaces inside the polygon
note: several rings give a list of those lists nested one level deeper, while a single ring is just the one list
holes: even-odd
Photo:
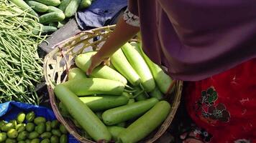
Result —
[{"label": "pile of pale green bottle gourds filling the woven basket", "polygon": [[165,95],[173,80],[142,51],[140,43],[127,43],[87,77],[91,56],[76,56],[68,81],[54,88],[63,117],[83,129],[96,142],[135,143],[160,127],[170,113]]}]

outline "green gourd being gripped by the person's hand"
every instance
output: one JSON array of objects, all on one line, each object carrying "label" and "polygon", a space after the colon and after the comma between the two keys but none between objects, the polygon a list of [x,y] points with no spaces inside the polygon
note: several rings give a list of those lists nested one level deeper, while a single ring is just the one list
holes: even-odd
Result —
[{"label": "green gourd being gripped by the person's hand", "polygon": [[[76,66],[78,66],[82,71],[86,72],[91,65],[91,56],[96,54],[96,51],[87,52],[84,54],[79,54],[75,61]],[[97,77],[102,79],[111,79],[115,81],[122,82],[123,84],[127,84],[127,79],[125,79],[119,72],[111,69],[109,66],[97,66],[93,69],[91,75],[89,77]]]}]

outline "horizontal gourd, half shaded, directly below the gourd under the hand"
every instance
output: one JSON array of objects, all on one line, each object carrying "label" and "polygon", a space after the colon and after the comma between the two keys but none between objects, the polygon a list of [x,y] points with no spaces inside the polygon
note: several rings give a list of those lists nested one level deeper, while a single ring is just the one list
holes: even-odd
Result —
[{"label": "horizontal gourd, half shaded, directly below the gourd under the hand", "polygon": [[124,84],[109,79],[73,79],[63,85],[78,97],[93,94],[121,95],[124,92]]}]

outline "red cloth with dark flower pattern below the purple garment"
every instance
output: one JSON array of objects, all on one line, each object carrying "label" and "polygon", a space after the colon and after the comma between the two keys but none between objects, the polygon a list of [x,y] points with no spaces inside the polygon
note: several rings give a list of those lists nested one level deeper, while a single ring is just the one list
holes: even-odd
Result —
[{"label": "red cloth with dark flower pattern below the purple garment", "polygon": [[211,134],[206,141],[255,142],[256,59],[208,79],[188,82],[184,93],[188,114]]}]

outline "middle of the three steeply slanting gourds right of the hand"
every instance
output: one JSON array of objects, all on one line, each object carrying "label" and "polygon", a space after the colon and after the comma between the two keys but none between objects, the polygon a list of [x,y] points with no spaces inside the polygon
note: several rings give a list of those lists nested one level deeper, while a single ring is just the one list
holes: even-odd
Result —
[{"label": "middle of the three steeply slanting gourds right of the hand", "polygon": [[147,63],[143,59],[142,55],[140,55],[140,52],[137,51],[134,46],[129,43],[126,43],[122,46],[122,51],[127,57],[132,68],[140,76],[142,86],[144,87],[145,91],[151,92],[152,90],[154,90],[155,80],[152,77],[150,68],[147,66]]}]

